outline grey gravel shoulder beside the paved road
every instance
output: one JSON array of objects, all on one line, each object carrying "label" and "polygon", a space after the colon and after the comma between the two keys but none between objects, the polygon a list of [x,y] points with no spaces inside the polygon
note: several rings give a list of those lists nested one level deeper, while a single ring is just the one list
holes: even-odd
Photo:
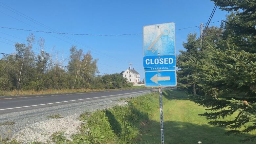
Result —
[{"label": "grey gravel shoulder beside the paved road", "polygon": [[[114,105],[125,105],[125,101],[119,101],[118,99],[146,93],[150,92],[1,114],[0,123],[14,122],[14,124],[0,126],[0,138],[9,137],[23,143],[32,141],[47,142],[50,140],[51,135],[58,131],[65,131],[66,137],[69,138],[79,131],[78,128],[83,123],[77,119],[80,114],[111,108]],[[53,114],[60,114],[63,117],[47,118],[47,116]]]}]

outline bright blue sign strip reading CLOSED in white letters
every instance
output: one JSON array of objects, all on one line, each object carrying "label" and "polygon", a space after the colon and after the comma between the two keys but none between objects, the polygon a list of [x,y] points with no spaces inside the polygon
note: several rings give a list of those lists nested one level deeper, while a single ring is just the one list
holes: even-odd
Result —
[{"label": "bright blue sign strip reading CLOSED in white letters", "polygon": [[176,66],[176,55],[144,56],[144,68],[169,68]]}]

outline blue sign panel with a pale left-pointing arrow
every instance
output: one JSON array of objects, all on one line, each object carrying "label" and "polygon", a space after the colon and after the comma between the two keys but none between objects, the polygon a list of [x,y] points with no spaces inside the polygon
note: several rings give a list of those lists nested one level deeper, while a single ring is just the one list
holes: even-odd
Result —
[{"label": "blue sign panel with a pale left-pointing arrow", "polygon": [[176,86],[176,71],[145,72],[145,85],[147,87]]}]

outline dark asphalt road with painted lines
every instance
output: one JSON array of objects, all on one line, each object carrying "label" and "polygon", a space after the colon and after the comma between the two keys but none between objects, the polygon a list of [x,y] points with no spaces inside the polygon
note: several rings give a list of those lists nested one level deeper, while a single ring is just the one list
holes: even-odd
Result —
[{"label": "dark asphalt road with painted lines", "polygon": [[90,101],[107,97],[125,96],[152,91],[152,89],[134,89],[120,91],[102,91],[85,93],[42,94],[27,96],[0,97],[0,114],[20,112],[37,108]]}]

